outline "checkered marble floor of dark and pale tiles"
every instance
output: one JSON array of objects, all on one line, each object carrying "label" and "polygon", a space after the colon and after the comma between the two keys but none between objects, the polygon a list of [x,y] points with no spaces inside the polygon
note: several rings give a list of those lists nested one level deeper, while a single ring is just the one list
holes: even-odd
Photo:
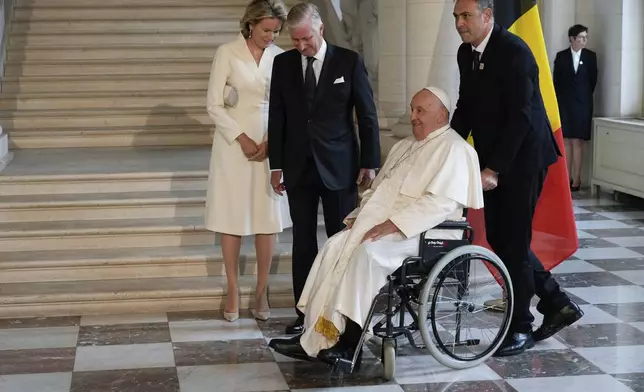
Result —
[{"label": "checkered marble floor of dark and pale tiles", "polygon": [[644,200],[575,197],[581,246],[553,272],[586,315],[523,355],[454,371],[401,347],[385,383],[375,343],[344,376],[272,352],[289,309],[0,320],[0,391],[644,391]]}]

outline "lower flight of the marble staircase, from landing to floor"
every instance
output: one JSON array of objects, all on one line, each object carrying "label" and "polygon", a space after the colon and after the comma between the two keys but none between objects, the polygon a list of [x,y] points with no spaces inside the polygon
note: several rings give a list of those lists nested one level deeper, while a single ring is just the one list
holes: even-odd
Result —
[{"label": "lower flight of the marble staircase, from landing to floor", "polygon": [[[0,173],[0,317],[221,307],[221,249],[203,226],[209,153],[18,150]],[[326,239],[322,226],[318,238]],[[290,229],[278,236],[274,307],[292,306],[291,241]],[[245,238],[244,307],[255,273],[252,238]]]}]

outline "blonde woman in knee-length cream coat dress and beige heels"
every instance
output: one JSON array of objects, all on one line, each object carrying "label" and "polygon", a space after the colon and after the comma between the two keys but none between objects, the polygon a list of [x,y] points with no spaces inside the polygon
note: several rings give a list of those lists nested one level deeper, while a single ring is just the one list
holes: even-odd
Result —
[{"label": "blonde woman in knee-length cream coat dress and beige heels", "polygon": [[253,0],[241,19],[241,34],[215,54],[207,108],[215,123],[210,158],[206,227],[221,234],[228,292],[224,316],[239,317],[238,269],[242,236],[255,236],[257,290],[253,315],[270,317],[267,289],[275,233],[290,226],[287,201],[273,192],[266,159],[268,94],[273,40],[286,20],[279,0]]}]

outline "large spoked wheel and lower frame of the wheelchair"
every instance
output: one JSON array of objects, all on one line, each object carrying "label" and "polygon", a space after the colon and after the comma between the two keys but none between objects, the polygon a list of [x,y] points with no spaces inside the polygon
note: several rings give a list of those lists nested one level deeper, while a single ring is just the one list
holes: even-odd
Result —
[{"label": "large spoked wheel and lower frame of the wheelchair", "polygon": [[[418,261],[426,262],[427,272],[403,268],[389,277],[386,292],[379,294],[386,306],[368,321],[374,334],[399,349],[427,348],[455,369],[482,363],[507,333],[513,308],[502,261],[469,245]],[[491,299],[501,299],[504,306],[486,306]]]}]

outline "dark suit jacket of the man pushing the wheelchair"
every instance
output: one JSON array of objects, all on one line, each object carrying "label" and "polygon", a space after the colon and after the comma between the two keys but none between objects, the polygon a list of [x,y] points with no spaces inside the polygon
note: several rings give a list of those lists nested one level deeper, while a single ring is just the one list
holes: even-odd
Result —
[{"label": "dark suit jacket of the man pushing the wheelchair", "polygon": [[561,155],[539,89],[539,67],[526,43],[495,24],[472,69],[472,45],[457,55],[461,83],[451,126],[470,131],[481,169],[499,174],[537,173]]}]

